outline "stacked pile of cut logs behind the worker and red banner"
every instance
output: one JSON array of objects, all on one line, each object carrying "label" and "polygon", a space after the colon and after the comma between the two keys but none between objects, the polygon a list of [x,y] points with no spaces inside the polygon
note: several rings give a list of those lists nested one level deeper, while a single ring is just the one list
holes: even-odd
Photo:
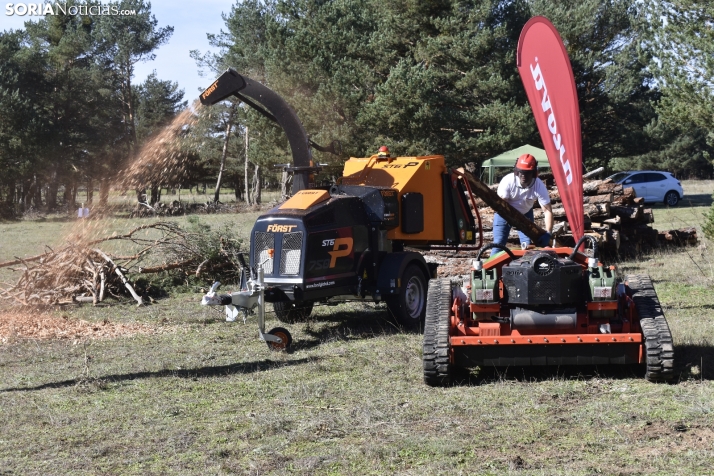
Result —
[{"label": "stacked pile of cut logs behind the worker and red banner", "polygon": [[[568,227],[565,208],[552,175],[541,176],[548,187],[553,207],[553,235],[560,246],[574,246],[575,240]],[[498,185],[491,187],[493,190]],[[493,239],[493,209],[482,200],[476,200],[484,229],[484,242]],[[654,215],[644,199],[637,197],[634,189],[623,188],[610,180],[590,180],[583,183],[583,211],[585,233],[593,236],[599,249],[609,255],[633,256],[656,246],[686,246],[697,243],[695,228],[658,231],[651,225]],[[543,211],[534,210],[535,223],[544,227]],[[517,232],[512,229],[509,243],[518,244]]]}]

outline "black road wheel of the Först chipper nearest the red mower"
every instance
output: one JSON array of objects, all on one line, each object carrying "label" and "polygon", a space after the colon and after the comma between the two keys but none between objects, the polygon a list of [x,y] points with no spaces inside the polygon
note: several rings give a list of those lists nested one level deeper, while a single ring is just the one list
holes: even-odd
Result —
[{"label": "black road wheel of the F\u00f6rst chipper nearest the red mower", "polygon": [[398,296],[387,299],[387,307],[399,324],[413,329],[424,322],[428,282],[422,270],[415,264],[404,269],[400,280],[401,292]]}]

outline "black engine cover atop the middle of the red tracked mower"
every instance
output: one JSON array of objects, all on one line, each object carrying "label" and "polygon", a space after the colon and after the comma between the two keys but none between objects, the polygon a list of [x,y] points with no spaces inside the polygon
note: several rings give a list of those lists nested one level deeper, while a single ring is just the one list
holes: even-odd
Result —
[{"label": "black engine cover atop the middle of the red tracked mower", "polygon": [[528,251],[503,266],[509,304],[526,306],[583,302],[583,268],[554,251]]}]

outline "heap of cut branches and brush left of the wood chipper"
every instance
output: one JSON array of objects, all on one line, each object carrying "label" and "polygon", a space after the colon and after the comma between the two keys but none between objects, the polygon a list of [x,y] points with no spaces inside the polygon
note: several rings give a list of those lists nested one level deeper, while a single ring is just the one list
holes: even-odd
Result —
[{"label": "heap of cut branches and brush left of the wood chipper", "polygon": [[[100,245],[129,250],[130,254],[111,255]],[[132,284],[139,275],[173,272],[183,277],[235,280],[239,253],[240,240],[228,229],[211,231],[194,222],[193,228],[186,230],[174,223],[157,222],[124,235],[68,240],[61,249],[47,248],[38,256],[0,263],[0,268],[21,273],[14,285],[0,286],[0,298],[20,306],[47,306],[72,302],[96,305],[108,297],[131,296],[143,304]]]}]

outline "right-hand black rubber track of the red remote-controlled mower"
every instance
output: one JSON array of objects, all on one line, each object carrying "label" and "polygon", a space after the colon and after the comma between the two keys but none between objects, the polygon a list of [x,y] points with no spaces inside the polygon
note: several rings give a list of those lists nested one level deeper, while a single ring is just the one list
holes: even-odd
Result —
[{"label": "right-hand black rubber track of the red remote-controlled mower", "polygon": [[645,338],[647,371],[650,382],[667,382],[674,378],[674,345],[672,333],[659,304],[652,280],[646,275],[626,276],[632,300],[640,316],[640,327]]}]

